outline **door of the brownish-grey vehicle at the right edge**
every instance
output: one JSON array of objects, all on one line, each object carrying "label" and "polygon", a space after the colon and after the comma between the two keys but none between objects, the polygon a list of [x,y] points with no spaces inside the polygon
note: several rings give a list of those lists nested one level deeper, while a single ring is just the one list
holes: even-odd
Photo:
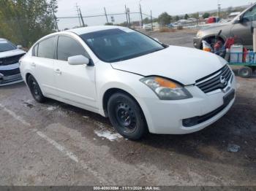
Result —
[{"label": "door of the brownish-grey vehicle at the right edge", "polygon": [[238,36],[246,47],[252,47],[252,26],[255,24],[256,7],[246,11],[239,23],[234,24],[231,35]]}]

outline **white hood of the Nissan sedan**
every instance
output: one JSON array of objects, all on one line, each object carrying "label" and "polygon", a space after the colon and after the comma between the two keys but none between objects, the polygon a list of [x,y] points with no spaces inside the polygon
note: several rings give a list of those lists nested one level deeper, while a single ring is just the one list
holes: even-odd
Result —
[{"label": "white hood of the Nissan sedan", "polygon": [[127,61],[111,63],[113,69],[128,71],[142,76],[161,76],[174,79],[183,85],[195,84],[221,69],[227,61],[210,52],[187,47],[170,46],[164,50]]}]

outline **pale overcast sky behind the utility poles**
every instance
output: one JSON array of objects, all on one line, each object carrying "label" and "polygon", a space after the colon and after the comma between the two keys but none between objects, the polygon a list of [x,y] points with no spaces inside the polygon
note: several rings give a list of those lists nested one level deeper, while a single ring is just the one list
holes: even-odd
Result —
[{"label": "pale overcast sky behind the utility poles", "polygon": [[[168,12],[170,15],[184,15],[217,9],[218,1],[222,8],[249,5],[256,2],[256,0],[59,0],[59,9],[56,15],[57,17],[77,16],[76,4],[80,7],[83,16],[103,15],[104,7],[108,14],[123,13],[124,5],[127,5],[131,12],[138,12],[139,2],[143,13],[150,15],[152,10],[153,17],[157,17],[162,12]],[[114,19],[114,23],[121,23],[126,20],[126,17],[125,15],[117,15],[114,16]],[[139,15],[132,15],[131,17],[131,20],[139,19]],[[108,17],[108,20],[110,21],[111,18]],[[84,21],[89,26],[107,23],[104,16],[85,18]],[[59,19],[60,29],[79,25],[78,18]]]}]

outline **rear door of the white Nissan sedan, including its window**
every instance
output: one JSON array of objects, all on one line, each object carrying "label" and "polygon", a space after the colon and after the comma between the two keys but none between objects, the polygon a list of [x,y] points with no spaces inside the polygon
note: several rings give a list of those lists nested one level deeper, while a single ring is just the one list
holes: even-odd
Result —
[{"label": "rear door of the white Nissan sedan, including its window", "polygon": [[49,95],[56,93],[53,75],[55,50],[56,36],[43,39],[34,46],[33,59],[29,63],[42,92]]}]

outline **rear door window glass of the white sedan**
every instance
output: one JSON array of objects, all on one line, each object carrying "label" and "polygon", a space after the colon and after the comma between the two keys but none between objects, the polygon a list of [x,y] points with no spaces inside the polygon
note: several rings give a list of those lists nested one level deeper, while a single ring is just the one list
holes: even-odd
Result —
[{"label": "rear door window glass of the white sedan", "polygon": [[54,58],[55,36],[39,42],[37,56],[41,58]]}]

